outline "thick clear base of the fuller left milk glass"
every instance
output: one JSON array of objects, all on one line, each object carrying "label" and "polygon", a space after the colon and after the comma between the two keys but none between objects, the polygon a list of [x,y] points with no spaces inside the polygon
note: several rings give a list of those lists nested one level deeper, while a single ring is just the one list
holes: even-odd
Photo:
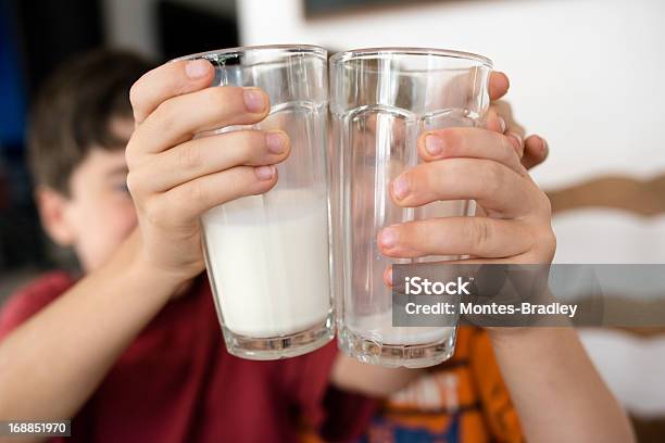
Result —
[{"label": "thick clear base of the fuller left milk glass", "polygon": [[226,327],[222,330],[229,354],[255,360],[297,357],[324,346],[335,337],[331,313],[322,322],[287,336],[256,339],[240,336]]}]

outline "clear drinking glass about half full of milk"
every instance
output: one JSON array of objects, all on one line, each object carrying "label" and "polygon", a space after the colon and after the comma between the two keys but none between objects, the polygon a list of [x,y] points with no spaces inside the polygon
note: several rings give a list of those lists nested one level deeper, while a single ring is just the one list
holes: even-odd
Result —
[{"label": "clear drinking glass about half full of milk", "polygon": [[[203,246],[229,353],[251,359],[301,355],[335,334],[327,174],[327,53],[311,46],[225,49],[206,59],[216,86],[263,88],[269,115],[238,129],[280,129],[291,153],[271,191],[206,212]],[[205,135],[200,135],[205,136]]]}]

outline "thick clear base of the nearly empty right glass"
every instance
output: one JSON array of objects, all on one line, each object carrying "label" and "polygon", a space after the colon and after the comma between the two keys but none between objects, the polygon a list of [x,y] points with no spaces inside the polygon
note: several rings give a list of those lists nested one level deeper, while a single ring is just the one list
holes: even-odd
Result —
[{"label": "thick clear base of the nearly empty right glass", "polygon": [[425,368],[443,363],[455,351],[455,332],[436,343],[428,344],[381,344],[338,326],[339,349],[350,357],[371,365],[387,368]]}]

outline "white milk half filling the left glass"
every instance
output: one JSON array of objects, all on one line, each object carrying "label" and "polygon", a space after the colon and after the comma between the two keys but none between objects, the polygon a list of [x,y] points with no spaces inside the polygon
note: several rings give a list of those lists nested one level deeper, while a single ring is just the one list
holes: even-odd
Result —
[{"label": "white milk half filling the left glass", "polygon": [[252,338],[301,332],[330,311],[323,191],[274,189],[202,217],[224,325]]}]

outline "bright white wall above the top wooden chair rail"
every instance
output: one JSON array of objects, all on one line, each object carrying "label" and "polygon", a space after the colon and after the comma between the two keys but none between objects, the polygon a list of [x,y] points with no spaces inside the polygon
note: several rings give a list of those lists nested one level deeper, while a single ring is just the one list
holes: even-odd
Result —
[{"label": "bright white wall above the top wooden chair rail", "polygon": [[490,56],[511,77],[519,121],[550,142],[552,156],[535,173],[543,186],[665,168],[665,2],[414,1],[379,11],[308,21],[302,0],[238,2],[244,45],[426,46]]}]

